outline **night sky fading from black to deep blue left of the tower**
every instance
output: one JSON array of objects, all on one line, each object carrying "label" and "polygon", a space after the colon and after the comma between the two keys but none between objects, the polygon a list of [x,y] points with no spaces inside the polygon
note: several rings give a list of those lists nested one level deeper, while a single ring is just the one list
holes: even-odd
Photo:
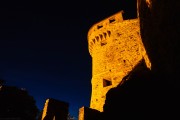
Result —
[{"label": "night sky fading from black to deep blue left of the tower", "polygon": [[88,30],[120,10],[135,18],[136,0],[0,2],[0,78],[26,88],[40,110],[55,98],[77,117],[91,96]]}]

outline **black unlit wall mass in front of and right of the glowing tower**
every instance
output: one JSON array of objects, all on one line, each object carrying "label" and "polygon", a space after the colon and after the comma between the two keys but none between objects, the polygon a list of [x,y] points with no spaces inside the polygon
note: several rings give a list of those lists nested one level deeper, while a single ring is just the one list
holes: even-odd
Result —
[{"label": "black unlit wall mass in front of and right of the glowing tower", "polygon": [[[151,70],[140,62],[107,93],[104,120],[179,119],[180,1],[138,0],[140,32]],[[144,67],[140,67],[144,66]]]}]

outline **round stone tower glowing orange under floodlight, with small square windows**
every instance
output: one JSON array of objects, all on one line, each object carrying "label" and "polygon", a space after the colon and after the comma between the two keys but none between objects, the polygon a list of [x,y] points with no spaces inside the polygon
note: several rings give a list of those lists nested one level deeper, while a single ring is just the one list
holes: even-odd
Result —
[{"label": "round stone tower glowing orange under floodlight, with small square windows", "polygon": [[123,20],[120,11],[88,31],[92,56],[92,93],[90,108],[103,112],[106,93],[119,85],[142,59],[151,63],[141,41],[138,19]]}]

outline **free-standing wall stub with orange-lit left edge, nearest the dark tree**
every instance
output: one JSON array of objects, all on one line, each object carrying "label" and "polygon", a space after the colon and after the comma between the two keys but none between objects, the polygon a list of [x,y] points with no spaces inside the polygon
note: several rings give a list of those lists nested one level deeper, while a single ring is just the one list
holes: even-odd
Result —
[{"label": "free-standing wall stub with orange-lit left edge, nearest the dark tree", "polygon": [[47,99],[41,120],[67,120],[69,104],[55,99]]}]

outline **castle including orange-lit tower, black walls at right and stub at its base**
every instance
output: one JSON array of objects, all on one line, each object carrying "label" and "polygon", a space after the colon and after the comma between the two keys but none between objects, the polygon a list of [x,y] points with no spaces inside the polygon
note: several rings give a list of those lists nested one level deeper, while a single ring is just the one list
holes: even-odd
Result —
[{"label": "castle including orange-lit tower, black walls at right and stub at its base", "polygon": [[90,28],[92,94],[79,120],[179,117],[178,5],[137,0],[138,18],[120,11]]}]

